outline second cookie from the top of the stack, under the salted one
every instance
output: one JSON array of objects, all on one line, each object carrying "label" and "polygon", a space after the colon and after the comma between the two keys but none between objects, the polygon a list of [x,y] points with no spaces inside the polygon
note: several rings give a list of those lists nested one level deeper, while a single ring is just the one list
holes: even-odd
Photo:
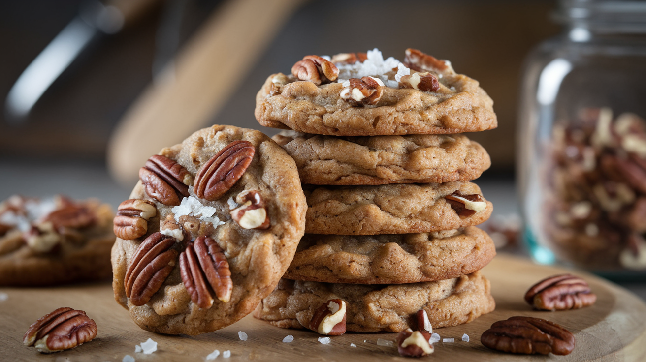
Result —
[{"label": "second cookie from the top of the stack, under the salted one", "polygon": [[273,139],[313,185],[444,183],[477,179],[491,160],[464,135],[335,137],[283,131]]}]

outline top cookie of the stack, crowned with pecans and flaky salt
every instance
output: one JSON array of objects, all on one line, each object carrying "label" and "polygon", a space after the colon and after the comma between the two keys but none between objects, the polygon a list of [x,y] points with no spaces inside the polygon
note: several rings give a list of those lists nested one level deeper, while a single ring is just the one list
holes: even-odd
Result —
[{"label": "top cookie of the stack, crowned with pecans and flaky salt", "polygon": [[384,60],[377,49],[354,62],[339,55],[306,58],[292,74],[267,77],[256,94],[261,125],[331,136],[454,134],[497,126],[494,102],[475,79],[419,50],[406,50],[403,62]]}]

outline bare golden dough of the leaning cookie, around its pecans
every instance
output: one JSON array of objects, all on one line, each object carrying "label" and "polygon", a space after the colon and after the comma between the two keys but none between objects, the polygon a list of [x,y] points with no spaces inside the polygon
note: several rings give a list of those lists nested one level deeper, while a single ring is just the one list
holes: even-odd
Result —
[{"label": "bare golden dough of the leaning cookie, around its pecans", "polygon": [[[218,295],[213,298],[211,307],[198,307],[183,282],[180,261],[174,259],[170,264],[172,271],[151,299],[144,305],[132,303],[124,285],[129,263],[142,241],[160,231],[160,222],[173,222],[172,210],[178,207],[164,205],[150,197],[141,181],[132,190],[130,199],[154,203],[157,213],[149,220],[143,236],[132,240],[117,239],[112,248],[113,288],[115,299],[129,310],[130,317],[141,328],[157,333],[195,335],[231,325],[252,312],[262,297],[271,293],[289,266],[304,232],[306,201],[296,165],[280,146],[257,130],[212,126],[195,132],[179,145],[163,148],[160,155],[182,165],[195,176],[220,150],[239,140],[251,143],[255,154],[244,174],[229,190],[217,199],[207,201],[196,195],[193,185],[189,187],[193,202],[200,203],[202,208],[214,208],[213,216],[204,219],[194,216],[187,222],[180,218],[180,231],[165,234],[183,237],[171,246],[178,254],[188,243],[194,244],[193,241],[202,236],[211,237],[222,248],[233,283],[229,301],[222,301]],[[208,187],[203,193],[208,194]],[[233,208],[240,206],[236,196],[251,190],[264,200],[270,221],[266,229],[244,228],[230,214]],[[171,217],[167,219],[168,216]]]}]

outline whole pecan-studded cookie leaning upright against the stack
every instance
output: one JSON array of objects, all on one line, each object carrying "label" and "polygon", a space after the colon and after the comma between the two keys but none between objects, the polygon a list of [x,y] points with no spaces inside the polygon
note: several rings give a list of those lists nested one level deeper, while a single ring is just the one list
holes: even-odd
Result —
[{"label": "whole pecan-studded cookie leaning upright against the stack", "polygon": [[305,226],[296,165],[257,130],[212,126],[164,148],[114,219],[113,287],[141,328],[202,334],[276,287]]}]

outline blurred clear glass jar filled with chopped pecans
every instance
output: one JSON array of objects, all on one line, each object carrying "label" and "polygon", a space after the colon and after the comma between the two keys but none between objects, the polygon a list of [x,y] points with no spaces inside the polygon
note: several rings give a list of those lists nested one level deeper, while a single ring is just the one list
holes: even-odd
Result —
[{"label": "blurred clear glass jar filled with chopped pecans", "polygon": [[528,57],[517,179],[539,263],[646,279],[646,1],[564,0]]}]

